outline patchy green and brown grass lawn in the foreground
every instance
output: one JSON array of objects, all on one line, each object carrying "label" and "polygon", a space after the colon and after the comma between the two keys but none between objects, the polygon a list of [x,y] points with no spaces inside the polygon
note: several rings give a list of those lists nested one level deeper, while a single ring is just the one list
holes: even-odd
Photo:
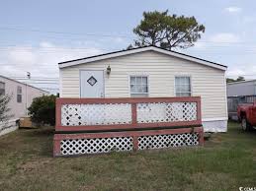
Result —
[{"label": "patchy green and brown grass lawn in the foreground", "polygon": [[205,147],[52,158],[52,128],[0,137],[0,190],[238,190],[256,187],[256,132],[229,123]]}]

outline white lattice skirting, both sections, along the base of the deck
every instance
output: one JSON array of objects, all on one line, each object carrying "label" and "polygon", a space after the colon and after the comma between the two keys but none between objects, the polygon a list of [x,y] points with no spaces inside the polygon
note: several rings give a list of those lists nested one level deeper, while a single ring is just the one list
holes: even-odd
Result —
[{"label": "white lattice skirting, both sections, along the base of the deck", "polygon": [[[137,149],[164,149],[199,145],[199,133],[139,136]],[[132,151],[133,137],[67,139],[60,141],[60,155],[101,154]]]}]

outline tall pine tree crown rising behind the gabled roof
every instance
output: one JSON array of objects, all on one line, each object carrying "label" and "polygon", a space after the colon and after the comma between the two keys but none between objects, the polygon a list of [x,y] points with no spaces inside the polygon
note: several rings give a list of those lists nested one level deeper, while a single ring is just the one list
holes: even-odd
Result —
[{"label": "tall pine tree crown rising behind the gabled roof", "polygon": [[154,11],[144,12],[133,32],[137,35],[134,46],[155,45],[171,50],[193,46],[205,32],[205,26],[200,25],[195,17],[168,15],[168,10]]}]

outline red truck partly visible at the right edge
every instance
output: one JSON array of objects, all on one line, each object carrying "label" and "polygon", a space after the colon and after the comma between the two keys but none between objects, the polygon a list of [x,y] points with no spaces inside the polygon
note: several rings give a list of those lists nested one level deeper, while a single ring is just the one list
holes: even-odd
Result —
[{"label": "red truck partly visible at the right edge", "polygon": [[256,101],[238,105],[237,117],[244,131],[256,129]]}]

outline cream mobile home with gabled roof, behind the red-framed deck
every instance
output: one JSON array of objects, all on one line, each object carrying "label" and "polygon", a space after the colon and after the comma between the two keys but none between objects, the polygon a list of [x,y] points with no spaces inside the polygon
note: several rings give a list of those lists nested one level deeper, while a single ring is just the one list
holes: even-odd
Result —
[{"label": "cream mobile home with gabled roof, behind the red-framed deck", "polygon": [[226,132],[226,66],[147,46],[59,63],[60,97],[201,96],[206,132]]}]

